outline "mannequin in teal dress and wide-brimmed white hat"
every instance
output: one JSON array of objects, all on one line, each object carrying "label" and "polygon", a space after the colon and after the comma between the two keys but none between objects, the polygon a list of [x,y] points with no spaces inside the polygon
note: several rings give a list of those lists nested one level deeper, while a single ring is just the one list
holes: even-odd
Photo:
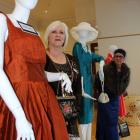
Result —
[{"label": "mannequin in teal dress and wide-brimmed white hat", "polygon": [[[82,79],[82,110],[80,112],[81,139],[91,140],[91,129],[93,120],[93,100],[87,98],[93,96],[93,78],[91,72],[92,62],[100,62],[103,57],[92,53],[87,43],[97,38],[98,31],[87,22],[81,22],[71,29],[71,34],[77,41],[73,48],[73,55],[80,64],[80,74]],[[102,65],[103,66],[103,65]],[[88,96],[86,96],[88,95]],[[88,109],[87,109],[88,108]]]}]

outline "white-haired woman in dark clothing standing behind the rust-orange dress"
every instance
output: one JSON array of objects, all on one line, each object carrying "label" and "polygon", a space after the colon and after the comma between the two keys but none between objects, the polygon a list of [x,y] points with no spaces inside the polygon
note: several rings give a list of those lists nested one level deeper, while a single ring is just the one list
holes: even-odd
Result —
[{"label": "white-haired woman in dark clothing standing behind the rust-orange dress", "polygon": [[50,85],[56,94],[64,115],[70,139],[78,140],[77,114],[78,110],[80,110],[80,98],[82,95],[81,79],[79,66],[75,59],[63,52],[68,40],[67,26],[60,21],[51,23],[46,30],[45,40],[48,44],[45,70],[49,72],[65,72],[72,82],[73,92],[70,94],[64,92],[61,82],[50,82]]}]

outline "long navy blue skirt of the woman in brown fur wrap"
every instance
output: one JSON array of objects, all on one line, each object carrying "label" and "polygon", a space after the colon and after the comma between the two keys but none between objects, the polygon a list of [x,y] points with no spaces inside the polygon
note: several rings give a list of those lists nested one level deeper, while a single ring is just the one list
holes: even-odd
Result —
[{"label": "long navy blue skirt of the woman in brown fur wrap", "polygon": [[96,140],[119,140],[119,97],[110,98],[106,104],[98,104]]}]

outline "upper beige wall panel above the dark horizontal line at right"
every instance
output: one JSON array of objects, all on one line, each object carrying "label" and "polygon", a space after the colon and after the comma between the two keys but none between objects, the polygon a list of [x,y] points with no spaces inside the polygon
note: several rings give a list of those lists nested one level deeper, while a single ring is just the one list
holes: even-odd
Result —
[{"label": "upper beige wall panel above the dark horizontal line at right", "polygon": [[95,0],[100,37],[140,33],[140,0]]}]

